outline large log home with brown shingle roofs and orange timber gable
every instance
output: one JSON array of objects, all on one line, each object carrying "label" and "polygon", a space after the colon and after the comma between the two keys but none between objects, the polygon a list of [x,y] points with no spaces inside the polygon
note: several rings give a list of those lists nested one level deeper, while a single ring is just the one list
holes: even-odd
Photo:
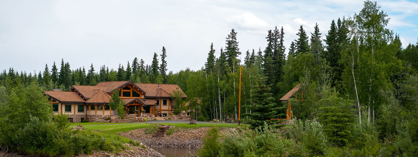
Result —
[{"label": "large log home with brown shingle roofs and orange timber gable", "polygon": [[81,122],[103,115],[115,115],[109,101],[116,90],[120,92],[119,97],[125,104],[124,114],[138,114],[138,111],[144,109],[143,114],[168,116],[176,105],[170,94],[179,92],[181,97],[187,97],[178,85],[131,81],[99,82],[95,86],[73,85],[69,92],[60,89],[43,92],[48,95],[55,115],[67,114],[71,122]]}]

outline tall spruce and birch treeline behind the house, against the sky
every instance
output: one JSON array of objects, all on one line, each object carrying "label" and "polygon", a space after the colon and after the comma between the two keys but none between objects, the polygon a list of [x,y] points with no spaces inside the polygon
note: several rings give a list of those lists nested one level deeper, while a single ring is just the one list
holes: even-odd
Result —
[{"label": "tall spruce and birch treeline behind the house, against the sky", "polygon": [[[255,87],[269,89],[274,98],[269,100],[276,104],[273,108],[280,108],[283,107],[278,101],[280,97],[299,83],[305,83],[315,84],[317,91],[333,88],[348,95],[347,99],[353,100],[359,108],[359,115],[364,110],[369,120],[374,120],[372,112],[388,101],[387,95],[382,92],[395,93],[396,100],[408,103],[410,98],[402,90],[407,79],[416,76],[418,42],[403,48],[399,35],[393,35],[386,28],[389,19],[379,11],[380,7],[370,1],[365,5],[367,7],[358,15],[338,18],[336,22],[332,20],[325,40],[322,40],[319,25],[315,25],[311,37],[301,25],[296,34],[298,38],[288,47],[287,56],[283,44],[285,30],[275,27],[267,31],[264,50],[246,50],[242,62],[238,59],[241,50],[237,32],[232,29],[225,45],[219,49],[220,55],[215,56],[217,50],[214,47],[217,46],[211,44],[204,67],[197,71],[186,69],[167,74],[167,55],[163,47],[161,64],[154,53],[151,65],[145,65],[144,60],[135,58],[127,62],[126,68],[120,64],[117,70],[109,70],[103,65],[96,72],[91,65],[86,72],[84,67],[70,70],[69,63],[61,60],[59,71],[55,62],[51,71],[46,65],[44,72],[38,74],[17,72],[10,68],[8,72],[4,70],[1,73],[0,80],[4,82],[9,78],[9,81],[22,82],[24,85],[37,81],[46,90],[54,87],[69,90],[71,85],[96,85],[102,81],[122,80],[177,84],[186,92],[190,107],[201,111],[199,120],[211,120],[221,119],[228,113],[237,115],[241,67],[242,113],[252,113],[252,105],[259,103]],[[369,22],[364,22],[365,19]],[[408,83],[413,84],[410,81]],[[285,110],[280,111],[273,117],[283,118],[280,116]]]}]

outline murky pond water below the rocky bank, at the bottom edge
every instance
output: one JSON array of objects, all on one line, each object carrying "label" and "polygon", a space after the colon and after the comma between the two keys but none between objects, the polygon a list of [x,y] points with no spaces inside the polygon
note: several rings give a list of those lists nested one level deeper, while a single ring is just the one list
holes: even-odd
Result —
[{"label": "murky pond water below the rocky bank, at the bottom edge", "polygon": [[197,155],[199,148],[181,147],[150,147],[151,149],[165,155],[166,157],[191,157]]}]

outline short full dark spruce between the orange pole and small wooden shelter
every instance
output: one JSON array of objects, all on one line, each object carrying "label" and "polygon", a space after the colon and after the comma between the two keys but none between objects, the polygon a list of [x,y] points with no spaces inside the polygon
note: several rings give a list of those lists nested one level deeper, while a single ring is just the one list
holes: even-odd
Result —
[{"label": "short full dark spruce between the orange pole and small wooden shelter", "polygon": [[264,123],[271,125],[270,119],[275,119],[280,116],[277,113],[279,107],[275,103],[273,93],[271,93],[271,87],[265,84],[265,80],[263,77],[259,78],[259,84],[255,87],[253,96],[255,103],[254,105],[248,106],[251,113],[244,114],[251,119],[248,123],[252,128],[264,125]]}]

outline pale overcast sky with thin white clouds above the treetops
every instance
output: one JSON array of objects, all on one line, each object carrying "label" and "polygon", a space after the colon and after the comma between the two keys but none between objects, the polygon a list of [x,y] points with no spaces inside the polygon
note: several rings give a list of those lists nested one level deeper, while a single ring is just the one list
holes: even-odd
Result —
[{"label": "pale overcast sky with thin white clouds above the treetops", "polygon": [[[418,2],[377,4],[403,47],[415,44]],[[0,0],[0,69],[33,73],[47,63],[51,70],[61,58],[71,69],[91,63],[96,70],[117,69],[134,57],[150,64],[165,46],[168,71],[199,70],[211,42],[218,57],[232,28],[243,60],[248,49],[264,50],[267,31],[275,26],[283,26],[288,49],[299,25],[310,37],[317,22],[325,39],[331,20],[352,16],[362,6],[362,0]]]}]

